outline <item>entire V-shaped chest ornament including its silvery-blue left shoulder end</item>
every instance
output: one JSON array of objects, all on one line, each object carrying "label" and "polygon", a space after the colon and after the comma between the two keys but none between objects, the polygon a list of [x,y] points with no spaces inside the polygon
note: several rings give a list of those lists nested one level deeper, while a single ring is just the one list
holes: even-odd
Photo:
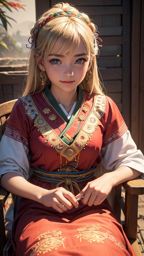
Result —
[{"label": "entire V-shaped chest ornament including its silvery-blue left shoulder end", "polygon": [[[30,95],[24,96],[21,99],[23,102],[25,102],[26,112],[30,119],[34,121],[34,125],[39,129],[40,133],[44,137],[45,143],[49,142],[51,147],[54,147],[55,150],[68,161],[73,161],[80,151],[84,149],[85,144],[87,144],[88,141],[91,141],[91,136],[97,129],[99,119],[104,115],[105,112],[105,95],[94,96],[91,111],[87,116],[80,132],[77,134],[74,142],[69,146],[57,135],[49,123],[47,123],[44,117],[40,114]],[[28,99],[31,101],[30,105]],[[28,107],[28,105],[30,107]],[[34,110],[33,114],[31,114],[31,109]],[[84,115],[81,114],[80,116]],[[55,120],[56,116],[52,114],[49,116],[49,119]]]}]

